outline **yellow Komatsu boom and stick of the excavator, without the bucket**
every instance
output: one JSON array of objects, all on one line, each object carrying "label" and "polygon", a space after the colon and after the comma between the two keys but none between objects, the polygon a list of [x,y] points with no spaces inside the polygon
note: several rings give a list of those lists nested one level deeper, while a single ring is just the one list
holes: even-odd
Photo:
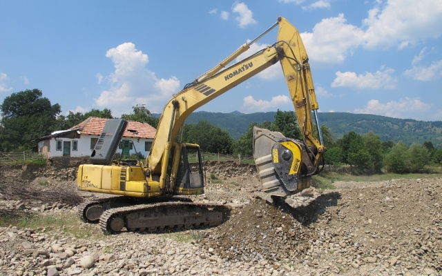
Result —
[{"label": "yellow Komatsu boom and stick of the excavator, without the bucket", "polygon": [[[279,26],[278,42],[233,64],[229,68],[225,68],[228,63],[249,49],[251,43],[260,39],[276,26]],[[242,45],[232,55],[220,62],[218,66],[195,79],[193,83],[186,85],[184,90],[174,95],[164,106],[151,152],[146,158],[148,169],[155,175],[162,172],[161,162],[164,154],[169,155],[171,144],[175,141],[186,117],[191,112],[278,61],[280,61],[287,81],[305,144],[316,149],[314,150],[316,152],[314,164],[318,166],[320,158],[325,152],[325,147],[322,143],[319,127],[318,133],[321,141],[318,141],[313,135],[311,110],[314,110],[316,125],[319,126],[316,116],[318,103],[311,79],[307,52],[298,30],[285,18],[279,17],[271,28],[250,43]],[[163,170],[165,169],[163,168]],[[161,173],[161,175],[165,174]]]}]

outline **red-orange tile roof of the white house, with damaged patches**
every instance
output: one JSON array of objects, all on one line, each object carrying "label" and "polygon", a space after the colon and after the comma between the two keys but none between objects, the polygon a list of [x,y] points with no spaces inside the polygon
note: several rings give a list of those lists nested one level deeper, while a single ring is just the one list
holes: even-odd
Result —
[{"label": "red-orange tile roof of the white house, with damaged patches", "polygon": [[[104,124],[106,124],[106,121],[108,121],[108,119],[99,117],[88,117],[88,119],[82,121],[80,124],[77,124],[77,126],[73,126],[70,129],[81,128],[81,134],[100,135],[102,134],[102,130],[104,128]],[[128,130],[135,130],[135,132]],[[155,132],[157,132],[157,130],[149,124],[140,123],[138,121],[128,121],[126,130],[124,130],[123,137],[153,138],[155,137]]]}]

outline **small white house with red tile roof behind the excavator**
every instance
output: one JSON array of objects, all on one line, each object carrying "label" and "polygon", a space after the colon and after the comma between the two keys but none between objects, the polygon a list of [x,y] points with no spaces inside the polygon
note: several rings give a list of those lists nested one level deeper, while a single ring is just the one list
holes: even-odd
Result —
[{"label": "small white house with red tile roof behind the excavator", "polygon": [[[89,117],[68,130],[57,130],[48,136],[40,137],[39,153],[52,157],[88,157],[102,134],[108,119]],[[140,152],[146,157],[152,146],[156,129],[149,124],[128,121],[117,153],[128,156]],[[122,152],[124,150],[125,152]]]}]

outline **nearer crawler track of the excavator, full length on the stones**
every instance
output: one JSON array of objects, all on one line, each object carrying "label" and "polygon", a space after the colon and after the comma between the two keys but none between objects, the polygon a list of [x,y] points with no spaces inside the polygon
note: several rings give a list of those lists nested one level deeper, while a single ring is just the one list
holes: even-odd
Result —
[{"label": "nearer crawler track of the excavator, full length on the stones", "polygon": [[160,202],[106,210],[99,218],[103,233],[156,232],[165,229],[218,226],[229,218],[230,208],[220,204]]}]

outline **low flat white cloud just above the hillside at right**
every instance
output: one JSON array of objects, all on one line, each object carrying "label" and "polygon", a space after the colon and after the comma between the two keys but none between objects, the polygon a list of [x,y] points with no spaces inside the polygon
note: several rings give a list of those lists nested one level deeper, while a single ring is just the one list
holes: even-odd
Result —
[{"label": "low flat white cloud just above the hillside at right", "polygon": [[420,99],[405,97],[404,99],[388,101],[387,103],[381,103],[381,101],[377,99],[371,99],[364,108],[355,109],[354,112],[396,118],[416,118],[419,117],[419,114],[425,114],[430,108],[430,104],[424,103]]}]

